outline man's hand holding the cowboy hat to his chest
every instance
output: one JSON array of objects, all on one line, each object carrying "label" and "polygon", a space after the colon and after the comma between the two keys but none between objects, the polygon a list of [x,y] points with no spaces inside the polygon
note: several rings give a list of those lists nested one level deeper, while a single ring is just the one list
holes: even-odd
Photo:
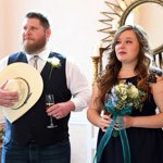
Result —
[{"label": "man's hand holding the cowboy hat to his chest", "polygon": [[18,93],[4,90],[7,83],[8,80],[0,86],[0,105],[10,108],[18,101]]}]

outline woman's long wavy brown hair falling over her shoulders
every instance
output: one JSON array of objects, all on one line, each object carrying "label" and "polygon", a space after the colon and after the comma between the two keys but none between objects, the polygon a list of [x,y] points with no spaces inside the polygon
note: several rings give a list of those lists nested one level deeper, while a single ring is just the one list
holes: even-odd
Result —
[{"label": "woman's long wavy brown hair falling over her shoulders", "polygon": [[149,91],[147,77],[148,77],[148,71],[149,71],[149,65],[151,63],[151,59],[150,57],[148,57],[148,54],[151,54],[151,49],[149,46],[148,36],[140,26],[124,25],[114,35],[111,50],[109,52],[108,64],[102,75],[99,76],[99,78],[97,79],[99,96],[97,97],[96,102],[101,109],[104,108],[105,95],[118,82],[117,76],[122,67],[122,62],[120,62],[116,58],[115,46],[120,35],[126,30],[133,30],[139,42],[138,62],[135,67],[135,72],[137,72],[137,76],[138,76],[137,87],[146,90],[147,92]]}]

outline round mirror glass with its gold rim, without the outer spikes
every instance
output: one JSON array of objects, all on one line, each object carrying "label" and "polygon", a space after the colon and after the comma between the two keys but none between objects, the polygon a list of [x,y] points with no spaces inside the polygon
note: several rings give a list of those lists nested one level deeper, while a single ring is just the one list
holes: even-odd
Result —
[{"label": "round mirror glass with its gold rim, without the outer spikes", "polygon": [[[154,54],[163,52],[163,1],[137,0],[124,11],[120,26],[125,24],[138,24],[147,32]],[[147,21],[150,20],[150,21]]]}]

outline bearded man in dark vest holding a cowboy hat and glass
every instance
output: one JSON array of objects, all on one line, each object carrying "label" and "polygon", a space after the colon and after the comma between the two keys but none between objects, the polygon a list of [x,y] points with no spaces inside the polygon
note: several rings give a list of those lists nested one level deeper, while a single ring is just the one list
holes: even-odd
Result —
[{"label": "bearded man in dark vest holding a cowboy hat and glass", "polygon": [[[87,108],[90,89],[85,75],[75,62],[50,51],[48,48],[50,36],[48,18],[41,13],[29,12],[23,24],[23,51],[0,61],[1,68],[15,62],[35,66],[43,80],[42,95],[34,106],[13,123],[5,118],[2,163],[71,162],[67,125],[70,115],[72,111]],[[55,68],[48,62],[51,59],[59,61]],[[18,100],[18,95],[3,90],[7,83],[0,86],[0,105],[10,108]],[[47,93],[54,96],[55,104],[46,110]],[[52,116],[55,127],[47,127],[49,116]]]}]

